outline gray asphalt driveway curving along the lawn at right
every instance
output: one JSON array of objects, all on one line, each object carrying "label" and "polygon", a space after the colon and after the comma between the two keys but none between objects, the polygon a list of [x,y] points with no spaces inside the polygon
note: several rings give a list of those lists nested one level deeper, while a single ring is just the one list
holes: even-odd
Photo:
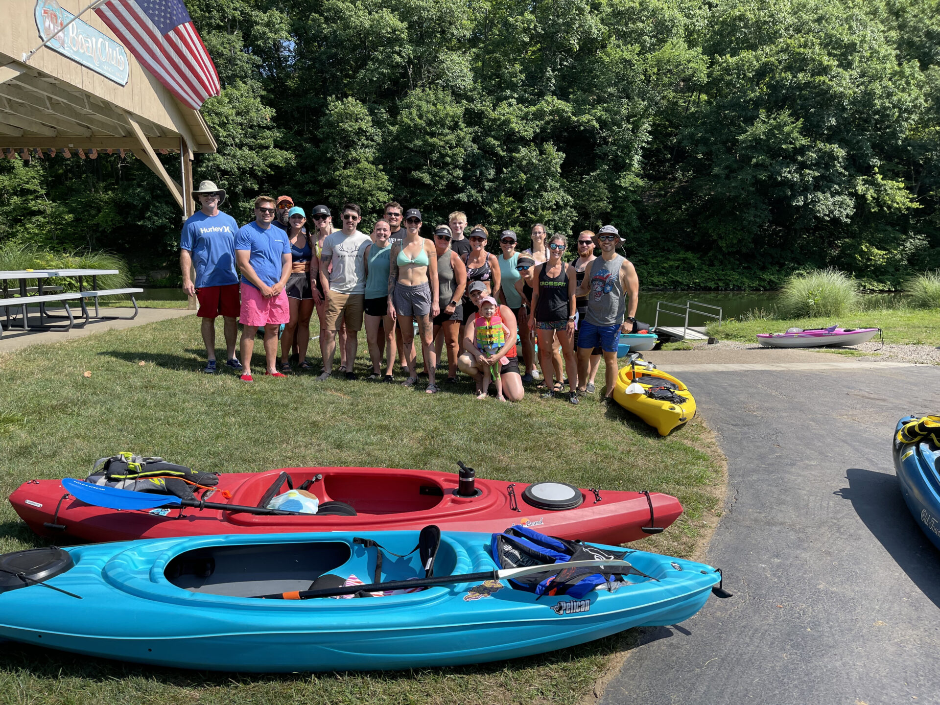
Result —
[{"label": "gray asphalt driveway curving along the lawn at right", "polygon": [[940,411],[940,368],[774,358],[794,368],[682,374],[729,459],[705,560],[734,597],[644,629],[604,705],[940,702],[940,553],[890,451],[902,415]]}]

